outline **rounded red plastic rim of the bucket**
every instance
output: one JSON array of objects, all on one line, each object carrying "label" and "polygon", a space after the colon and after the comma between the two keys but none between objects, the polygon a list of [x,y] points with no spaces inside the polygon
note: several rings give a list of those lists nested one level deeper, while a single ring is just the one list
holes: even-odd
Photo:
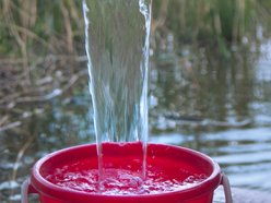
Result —
[{"label": "rounded red plastic rim of the bucket", "polygon": [[[113,198],[113,195],[110,194],[99,194],[99,193],[87,193],[87,192],[83,192],[83,191],[76,191],[73,189],[69,189],[69,188],[61,188],[57,184],[54,184],[51,182],[49,182],[48,180],[46,180],[42,174],[40,174],[40,168],[43,167],[43,165],[46,162],[49,162],[50,158],[55,157],[55,156],[61,156],[66,153],[69,153],[71,151],[79,151],[85,147],[95,147],[96,148],[96,144],[83,144],[83,145],[78,145],[78,146],[71,146],[68,148],[63,148],[57,152],[54,152],[51,154],[48,154],[46,156],[44,156],[43,158],[40,158],[33,167],[32,169],[32,176],[31,176],[31,184],[33,186],[33,188],[43,195],[49,195],[49,196],[55,196],[58,194],[59,196],[62,196],[64,199],[66,194],[69,193],[69,199],[70,196],[80,196],[81,200],[89,200],[91,198],[97,198],[97,199],[109,199]],[[133,194],[128,194],[128,195],[114,195],[114,199],[119,199],[119,201],[125,201],[125,200],[129,200],[131,198],[137,196],[137,199],[149,199],[149,198],[161,198],[161,196],[175,196],[175,195],[180,195],[184,198],[184,200],[192,198],[195,195],[195,192],[197,191],[197,193],[200,191],[201,194],[203,193],[212,193],[221,183],[222,181],[222,172],[221,172],[221,168],[220,166],[213,160],[211,159],[209,156],[190,150],[190,148],[186,148],[186,147],[181,147],[181,146],[174,146],[174,145],[167,145],[167,144],[154,144],[154,143],[149,143],[148,144],[148,151],[150,150],[155,150],[157,147],[169,147],[170,150],[174,151],[178,151],[178,152],[182,152],[182,153],[188,153],[188,154],[192,154],[198,158],[204,159],[205,162],[208,162],[210,164],[210,166],[212,166],[212,174],[204,179],[203,181],[197,183],[196,186],[191,187],[191,188],[187,188],[187,189],[182,189],[182,190],[177,190],[177,191],[167,191],[167,192],[162,192],[162,193],[151,193],[151,194],[141,194],[141,195],[133,195]]]}]

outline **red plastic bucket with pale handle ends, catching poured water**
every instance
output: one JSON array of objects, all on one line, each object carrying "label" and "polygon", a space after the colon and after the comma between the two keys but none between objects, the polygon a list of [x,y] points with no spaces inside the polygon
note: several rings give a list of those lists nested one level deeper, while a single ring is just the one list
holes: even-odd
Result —
[{"label": "red plastic bucket with pale handle ends, catching poured water", "polygon": [[[137,156],[138,147],[139,145],[136,144],[123,147],[123,145],[108,143],[107,148],[110,151],[110,158],[117,160],[114,165],[125,166],[126,162]],[[74,163],[81,164],[75,166]],[[224,187],[226,202],[232,202],[226,177],[221,172],[220,166],[204,154],[179,146],[148,144],[146,163],[160,166],[170,176],[179,176],[178,171],[181,170],[187,174],[204,175],[205,178],[181,190],[138,195],[79,191],[48,180],[48,176],[61,166],[72,166],[73,170],[86,167],[97,168],[96,145],[80,145],[40,158],[33,167],[31,179],[26,180],[22,187],[22,203],[28,202],[30,193],[37,193],[42,203],[211,203],[213,192],[220,184]],[[133,167],[130,168],[133,170]]]}]

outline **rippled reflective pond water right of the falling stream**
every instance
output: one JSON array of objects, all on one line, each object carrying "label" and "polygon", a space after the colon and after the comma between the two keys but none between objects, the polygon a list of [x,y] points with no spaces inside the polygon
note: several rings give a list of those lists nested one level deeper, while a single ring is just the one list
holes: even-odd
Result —
[{"label": "rippled reflective pond water right of the falling stream", "polygon": [[201,151],[221,165],[232,186],[270,192],[270,47],[267,41],[225,61],[204,49],[156,60],[151,141]]}]

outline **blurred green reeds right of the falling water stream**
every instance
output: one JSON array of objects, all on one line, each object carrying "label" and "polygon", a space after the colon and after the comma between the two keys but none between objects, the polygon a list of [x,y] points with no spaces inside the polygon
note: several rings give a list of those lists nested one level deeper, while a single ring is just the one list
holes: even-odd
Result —
[{"label": "blurred green reeds right of the falling water stream", "polygon": [[224,56],[244,37],[257,40],[258,26],[270,28],[270,1],[156,0],[153,25],[174,33],[180,44],[216,49]]}]

